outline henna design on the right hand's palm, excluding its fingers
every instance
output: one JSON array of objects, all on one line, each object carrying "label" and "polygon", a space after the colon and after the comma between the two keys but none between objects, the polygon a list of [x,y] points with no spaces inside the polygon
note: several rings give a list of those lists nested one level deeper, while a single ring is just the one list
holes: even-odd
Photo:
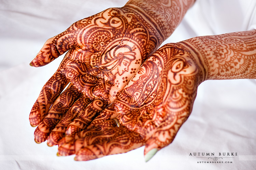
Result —
[{"label": "henna design on the right hand's palm, excluding its fingers", "polygon": [[[143,72],[141,75],[140,71]],[[155,76],[152,73],[148,76],[150,72]],[[175,124],[182,124],[191,112],[191,101],[202,82],[201,75],[196,60],[188,51],[179,45],[163,46],[148,58],[136,74],[139,78],[135,76],[115,102],[116,110],[121,114],[120,123],[145,139],[159,131],[162,123],[178,127]],[[136,103],[128,102],[126,98],[132,98]],[[129,108],[129,111],[123,108]]]}]

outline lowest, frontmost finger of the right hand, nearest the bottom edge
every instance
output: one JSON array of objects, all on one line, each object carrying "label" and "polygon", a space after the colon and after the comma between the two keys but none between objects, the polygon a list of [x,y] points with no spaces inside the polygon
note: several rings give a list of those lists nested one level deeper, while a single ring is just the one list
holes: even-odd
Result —
[{"label": "lowest, frontmost finger of the right hand, nearest the bottom edge", "polygon": [[[94,143],[89,146],[83,146],[76,152],[75,160],[92,160],[107,155],[126,153],[133,149],[137,149],[144,145],[144,139],[135,132],[130,132],[120,128],[114,129],[113,138],[102,141],[101,143]],[[119,131],[122,130],[123,133]]]}]

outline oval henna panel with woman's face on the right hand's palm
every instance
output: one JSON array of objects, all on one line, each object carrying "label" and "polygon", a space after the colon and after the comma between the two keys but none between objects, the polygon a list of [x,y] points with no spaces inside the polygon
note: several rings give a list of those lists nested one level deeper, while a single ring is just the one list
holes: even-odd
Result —
[{"label": "oval henna panel with woman's face on the right hand's palm", "polygon": [[160,63],[161,61],[156,62],[150,57],[137,71],[115,101],[115,109],[119,114],[125,114],[153,101],[160,80],[159,74],[162,71]]}]

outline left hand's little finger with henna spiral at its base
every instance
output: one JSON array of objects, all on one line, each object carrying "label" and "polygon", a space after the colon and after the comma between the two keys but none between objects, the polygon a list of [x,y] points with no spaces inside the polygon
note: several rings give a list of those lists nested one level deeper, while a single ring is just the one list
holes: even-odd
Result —
[{"label": "left hand's little finger with henna spiral at its base", "polygon": [[88,104],[84,111],[68,125],[66,135],[84,130],[106,106],[108,103],[101,99],[96,99]]}]

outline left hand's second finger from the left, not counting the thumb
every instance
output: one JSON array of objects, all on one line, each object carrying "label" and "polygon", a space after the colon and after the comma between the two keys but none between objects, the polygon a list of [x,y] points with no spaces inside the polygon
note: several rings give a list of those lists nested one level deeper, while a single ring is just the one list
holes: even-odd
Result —
[{"label": "left hand's second finger from the left, not counting the thumb", "polygon": [[80,96],[81,94],[77,89],[70,84],[69,87],[55,100],[43,121],[38,125],[34,132],[35,142],[41,143],[46,140],[55,125]]}]

